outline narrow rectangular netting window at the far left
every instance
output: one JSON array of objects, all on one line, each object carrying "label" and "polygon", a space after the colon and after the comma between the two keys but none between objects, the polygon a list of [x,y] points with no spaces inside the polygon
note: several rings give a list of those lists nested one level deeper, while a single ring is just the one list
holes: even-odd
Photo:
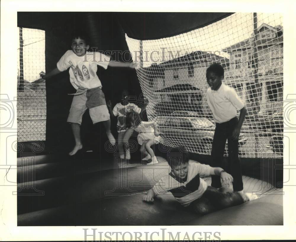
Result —
[{"label": "narrow rectangular netting window at the far left", "polygon": [[46,93],[45,80],[40,77],[45,72],[45,31],[18,30],[17,139],[42,141],[46,130]]}]

